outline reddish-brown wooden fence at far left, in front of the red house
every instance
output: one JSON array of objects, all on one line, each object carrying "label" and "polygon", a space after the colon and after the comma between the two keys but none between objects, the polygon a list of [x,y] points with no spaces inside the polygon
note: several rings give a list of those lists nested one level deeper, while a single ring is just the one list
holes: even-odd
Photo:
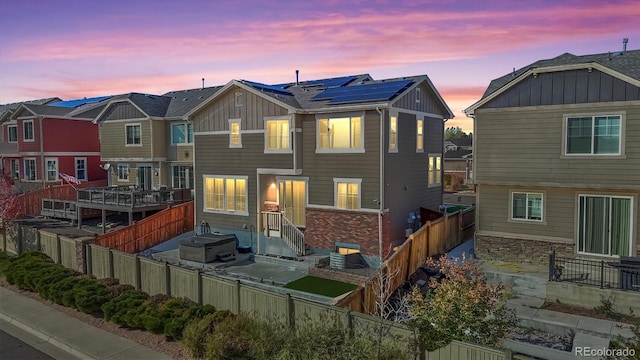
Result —
[{"label": "reddish-brown wooden fence at far left, in front of the red house", "polygon": [[83,182],[80,185],[69,184],[55,185],[45,189],[35,190],[26,194],[19,195],[18,199],[18,217],[26,215],[40,215],[42,212],[42,199],[72,200],[76,201],[78,195],[77,188],[100,187],[106,186],[107,180],[96,180]]}]

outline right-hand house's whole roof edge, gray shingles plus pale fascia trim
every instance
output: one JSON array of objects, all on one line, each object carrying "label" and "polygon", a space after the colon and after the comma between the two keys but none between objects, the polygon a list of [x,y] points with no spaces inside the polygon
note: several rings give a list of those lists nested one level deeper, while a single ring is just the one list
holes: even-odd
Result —
[{"label": "right-hand house's whole roof edge, gray shingles plus pale fascia trim", "polygon": [[640,83],[640,50],[580,56],[564,53],[552,59],[538,60],[532,64],[492,80],[482,95],[482,98],[469,108],[465,109],[465,112],[467,114],[472,114],[475,109],[484,103],[484,100],[488,100],[488,97],[518,83],[522,80],[522,77],[525,74],[535,71],[535,69],[548,68],[554,71],[563,71],[571,68],[572,66],[579,65],[599,66],[617,73],[618,76],[627,77],[628,79],[636,80]]}]

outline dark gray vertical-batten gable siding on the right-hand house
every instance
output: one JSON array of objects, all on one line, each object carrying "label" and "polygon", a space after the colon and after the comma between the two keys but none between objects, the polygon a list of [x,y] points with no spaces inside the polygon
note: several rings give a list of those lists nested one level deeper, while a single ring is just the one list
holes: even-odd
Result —
[{"label": "dark gray vertical-batten gable siding on the right-hand house", "polygon": [[618,78],[587,69],[530,76],[483,108],[581,104],[640,100],[640,88]]}]

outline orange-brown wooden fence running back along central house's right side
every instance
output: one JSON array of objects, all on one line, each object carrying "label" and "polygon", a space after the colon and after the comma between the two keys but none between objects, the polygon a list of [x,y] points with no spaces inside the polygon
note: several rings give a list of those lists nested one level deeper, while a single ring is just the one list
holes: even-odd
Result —
[{"label": "orange-brown wooden fence running back along central house's right side", "polygon": [[[376,299],[379,295],[377,292],[394,292],[409,280],[409,277],[424,265],[428,258],[444,254],[463,241],[471,239],[474,222],[475,208],[473,207],[445,215],[435,221],[427,221],[385,260],[376,275],[344,297],[337,305],[365,314],[375,314]],[[381,287],[380,279],[386,279],[388,283]]]}]

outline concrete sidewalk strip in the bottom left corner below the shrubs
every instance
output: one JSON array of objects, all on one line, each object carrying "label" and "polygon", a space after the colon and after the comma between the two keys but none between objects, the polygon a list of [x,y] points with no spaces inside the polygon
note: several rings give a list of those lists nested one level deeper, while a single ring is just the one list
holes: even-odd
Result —
[{"label": "concrete sidewalk strip in the bottom left corner below the shrubs", "polygon": [[0,321],[80,359],[170,359],[3,287],[0,287]]}]

